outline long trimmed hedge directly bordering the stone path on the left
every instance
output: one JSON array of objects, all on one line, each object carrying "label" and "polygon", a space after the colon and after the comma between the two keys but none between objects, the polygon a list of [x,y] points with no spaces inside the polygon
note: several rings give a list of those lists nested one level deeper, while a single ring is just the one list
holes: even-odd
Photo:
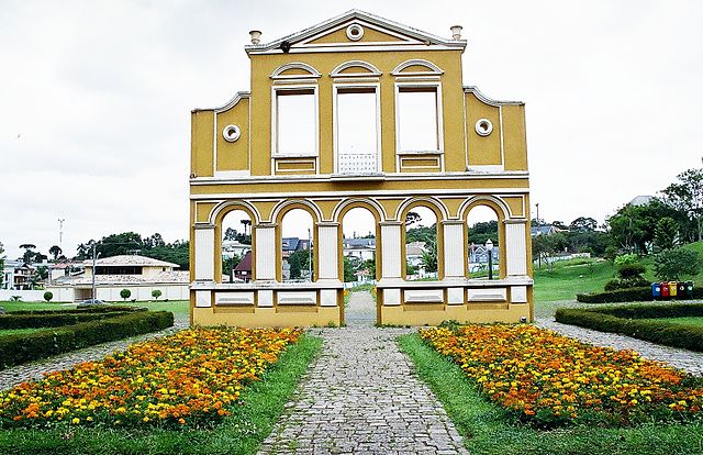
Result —
[{"label": "long trimmed hedge directly bordering the stone path on the left", "polygon": [[170,311],[140,311],[31,334],[0,336],[0,369],[171,325]]}]

